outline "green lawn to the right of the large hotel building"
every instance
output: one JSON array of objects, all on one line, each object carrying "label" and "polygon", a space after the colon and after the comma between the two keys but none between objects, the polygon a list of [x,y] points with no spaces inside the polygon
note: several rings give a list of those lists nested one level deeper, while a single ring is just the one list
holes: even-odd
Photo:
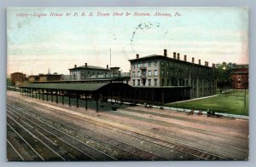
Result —
[{"label": "green lawn to the right of the large hotel building", "polygon": [[209,109],[215,112],[248,115],[248,101],[248,92],[246,94],[246,107],[244,107],[244,90],[231,90],[216,97],[176,104],[170,103],[166,104],[166,106],[205,111]]}]

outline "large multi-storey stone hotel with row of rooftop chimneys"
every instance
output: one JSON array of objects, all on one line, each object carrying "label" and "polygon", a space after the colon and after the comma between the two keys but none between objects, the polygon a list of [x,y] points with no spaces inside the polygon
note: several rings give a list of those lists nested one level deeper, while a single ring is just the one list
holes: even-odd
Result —
[{"label": "large multi-storey stone hotel with row of rooftop chimneys", "polygon": [[[179,53],[173,53],[173,58],[164,55],[148,55],[130,60],[131,62],[131,86],[137,88],[174,88],[181,89],[188,98],[197,98],[212,95],[216,90],[214,78],[214,64],[208,66],[201,65],[201,60],[195,64],[194,57],[192,62],[187,61],[187,55],[183,60]],[[188,92],[189,88],[189,92]],[[182,91],[182,90],[181,90]]]}]

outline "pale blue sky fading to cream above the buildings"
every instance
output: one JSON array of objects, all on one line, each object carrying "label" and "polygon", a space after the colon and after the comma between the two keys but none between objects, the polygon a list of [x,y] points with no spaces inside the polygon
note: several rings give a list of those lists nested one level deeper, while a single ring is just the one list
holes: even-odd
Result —
[{"label": "pale blue sky fading to cream above the buildings", "polygon": [[[116,12],[123,15],[114,16]],[[8,75],[38,75],[48,69],[69,74],[69,68],[85,62],[129,72],[129,60],[137,54],[163,55],[164,49],[169,57],[177,52],[182,60],[187,55],[188,61],[195,57],[195,63],[200,59],[209,66],[224,61],[247,64],[248,9],[9,8],[7,41]]]}]

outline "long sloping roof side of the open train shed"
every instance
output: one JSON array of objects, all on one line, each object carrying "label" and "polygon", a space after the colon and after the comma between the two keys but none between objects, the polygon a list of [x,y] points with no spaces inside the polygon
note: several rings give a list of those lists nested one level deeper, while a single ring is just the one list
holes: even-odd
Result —
[{"label": "long sloping roof side of the open train shed", "polygon": [[96,91],[108,83],[28,83],[21,88]]}]

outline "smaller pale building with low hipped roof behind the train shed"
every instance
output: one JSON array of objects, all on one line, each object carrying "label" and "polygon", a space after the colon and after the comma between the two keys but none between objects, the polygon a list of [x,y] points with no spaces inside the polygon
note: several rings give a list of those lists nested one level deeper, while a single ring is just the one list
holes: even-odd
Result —
[{"label": "smaller pale building with low hipped roof behind the train shed", "polygon": [[91,78],[92,76],[107,76],[110,74],[110,70],[107,68],[102,68],[101,66],[88,66],[84,63],[84,66],[75,65],[73,68],[68,69],[70,72],[71,80],[83,80],[86,78]]}]

